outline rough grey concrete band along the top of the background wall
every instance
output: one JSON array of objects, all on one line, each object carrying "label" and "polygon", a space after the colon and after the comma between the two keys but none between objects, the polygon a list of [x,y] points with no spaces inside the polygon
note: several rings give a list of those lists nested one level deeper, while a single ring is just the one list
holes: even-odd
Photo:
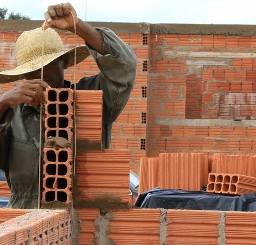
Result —
[{"label": "rough grey concrete band along the top of the background wall", "polygon": [[[43,17],[43,16],[42,16]],[[42,26],[42,20],[0,20],[0,31],[28,31]],[[255,36],[256,26],[249,24],[170,24],[170,23],[125,23],[88,22],[93,27],[106,27],[116,33],[151,34],[219,34]],[[63,32],[63,31],[60,31]]]}]

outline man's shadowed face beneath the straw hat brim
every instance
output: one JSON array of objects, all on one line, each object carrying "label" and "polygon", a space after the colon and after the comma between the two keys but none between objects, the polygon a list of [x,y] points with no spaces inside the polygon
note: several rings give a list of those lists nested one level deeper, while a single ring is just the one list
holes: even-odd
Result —
[{"label": "man's shadowed face beneath the straw hat brim", "polygon": [[[68,58],[61,56],[44,66],[42,80],[47,82],[50,87],[58,88],[64,79],[64,69],[68,67]],[[24,74],[25,79],[41,79],[41,69]]]}]

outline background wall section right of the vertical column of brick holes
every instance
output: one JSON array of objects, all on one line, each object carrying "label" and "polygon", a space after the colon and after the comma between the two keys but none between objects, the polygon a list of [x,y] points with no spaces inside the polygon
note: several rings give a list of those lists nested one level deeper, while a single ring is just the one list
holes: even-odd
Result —
[{"label": "background wall section right of the vertical column of brick holes", "polygon": [[[155,26],[150,36],[147,156],[166,151],[255,153],[256,128],[250,120],[256,118],[256,38],[249,32],[236,34],[232,26],[228,34],[217,34],[225,32],[220,28],[214,34],[207,27],[209,35],[200,33],[200,25],[180,25],[179,31],[165,25],[166,34],[159,31],[163,26]],[[174,30],[181,34],[172,34]]]}]

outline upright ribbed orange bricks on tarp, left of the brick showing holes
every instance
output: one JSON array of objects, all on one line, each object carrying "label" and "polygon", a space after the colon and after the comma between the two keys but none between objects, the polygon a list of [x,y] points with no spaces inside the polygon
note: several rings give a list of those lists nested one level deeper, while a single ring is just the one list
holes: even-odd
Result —
[{"label": "upright ribbed orange bricks on tarp, left of the brick showing holes", "polygon": [[141,158],[139,193],[160,189],[202,190],[207,184],[208,156],[204,153],[161,153]]}]

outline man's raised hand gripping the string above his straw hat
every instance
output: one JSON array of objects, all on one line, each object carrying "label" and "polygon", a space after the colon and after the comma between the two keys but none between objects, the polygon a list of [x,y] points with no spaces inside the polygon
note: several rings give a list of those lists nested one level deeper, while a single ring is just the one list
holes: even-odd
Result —
[{"label": "man's raised hand gripping the string above his straw hat", "polygon": [[73,31],[74,20],[70,11],[74,15],[75,23],[77,24],[77,14],[70,3],[48,6],[48,11],[45,12],[45,29],[47,29],[48,27],[53,27],[60,30]]}]

